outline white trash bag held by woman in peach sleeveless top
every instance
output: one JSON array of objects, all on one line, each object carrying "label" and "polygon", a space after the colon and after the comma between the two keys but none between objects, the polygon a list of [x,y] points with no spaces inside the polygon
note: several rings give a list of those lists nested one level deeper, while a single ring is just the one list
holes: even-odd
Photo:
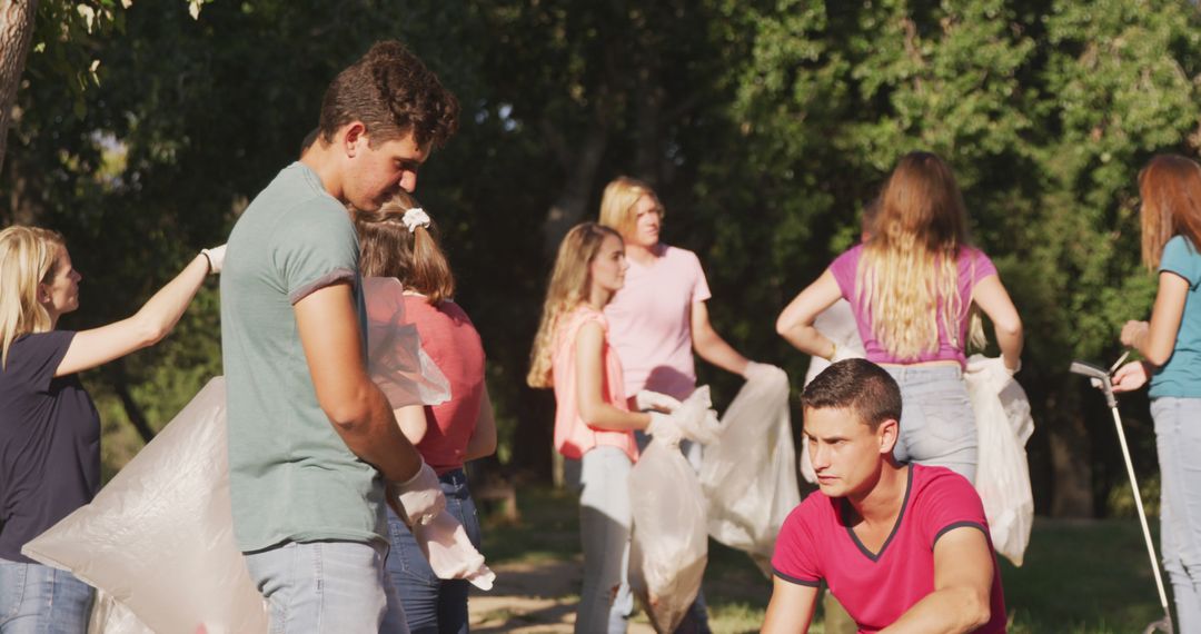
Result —
[{"label": "white trash bag held by woman in peach sleeveless top", "polygon": [[675,632],[709,561],[704,494],[680,449],[653,438],[629,473],[629,585],[655,630]]}]

